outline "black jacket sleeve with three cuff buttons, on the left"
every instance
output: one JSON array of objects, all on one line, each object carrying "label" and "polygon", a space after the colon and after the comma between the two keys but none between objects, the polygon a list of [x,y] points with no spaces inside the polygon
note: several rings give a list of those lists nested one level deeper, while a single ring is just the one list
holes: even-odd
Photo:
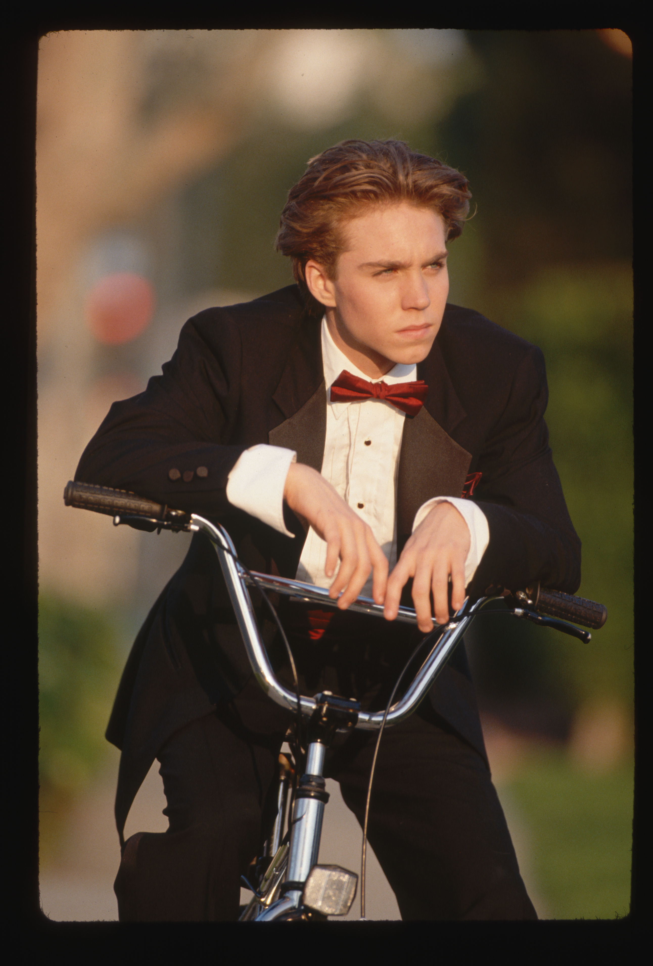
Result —
[{"label": "black jacket sleeve with three cuff buttons, on the left", "polygon": [[[219,325],[219,312],[215,324]],[[241,394],[241,336],[226,324],[210,346],[191,319],[163,374],[114,403],[79,461],[75,480],[128,490],[175,509],[216,517],[228,508]]]}]

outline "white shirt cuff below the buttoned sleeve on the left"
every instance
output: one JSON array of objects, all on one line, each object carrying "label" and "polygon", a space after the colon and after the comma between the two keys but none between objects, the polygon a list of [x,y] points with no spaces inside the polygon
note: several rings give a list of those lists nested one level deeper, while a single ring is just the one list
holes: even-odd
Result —
[{"label": "white shirt cuff below the buttoned sleeve on the left", "polygon": [[252,517],[292,537],[283,522],[283,490],[297,453],[259,443],[241,453],[227,479],[227,499]]}]

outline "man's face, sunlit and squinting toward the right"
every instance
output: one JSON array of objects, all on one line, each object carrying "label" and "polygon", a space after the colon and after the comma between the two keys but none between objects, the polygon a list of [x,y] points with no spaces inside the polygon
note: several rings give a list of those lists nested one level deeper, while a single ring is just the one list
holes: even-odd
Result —
[{"label": "man's face, sunlit and squinting toward the right", "polygon": [[421,362],[449,292],[442,218],[408,202],[379,205],[347,223],[344,236],[334,279],[306,265],[334,342],[371,379],[397,362]]}]

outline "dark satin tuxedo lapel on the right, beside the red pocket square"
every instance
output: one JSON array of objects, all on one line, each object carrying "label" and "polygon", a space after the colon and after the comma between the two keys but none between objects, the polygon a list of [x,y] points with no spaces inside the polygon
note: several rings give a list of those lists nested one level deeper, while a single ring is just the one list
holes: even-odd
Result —
[{"label": "dark satin tuxedo lapel on the right, beside the red pocket square", "polygon": [[421,410],[404,423],[397,482],[397,553],[411,535],[422,503],[432,497],[461,497],[471,454],[450,434],[467,413],[434,344],[417,366],[417,378],[429,386]]}]

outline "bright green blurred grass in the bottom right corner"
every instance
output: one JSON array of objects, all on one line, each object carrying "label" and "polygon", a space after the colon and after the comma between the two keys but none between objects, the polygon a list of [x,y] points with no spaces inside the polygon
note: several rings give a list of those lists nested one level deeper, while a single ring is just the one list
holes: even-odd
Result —
[{"label": "bright green blurred grass in the bottom right corner", "polygon": [[[630,909],[633,768],[580,771],[533,752],[505,792],[529,828],[529,864],[551,919],[616,919]],[[499,797],[501,788],[499,788]]]}]

